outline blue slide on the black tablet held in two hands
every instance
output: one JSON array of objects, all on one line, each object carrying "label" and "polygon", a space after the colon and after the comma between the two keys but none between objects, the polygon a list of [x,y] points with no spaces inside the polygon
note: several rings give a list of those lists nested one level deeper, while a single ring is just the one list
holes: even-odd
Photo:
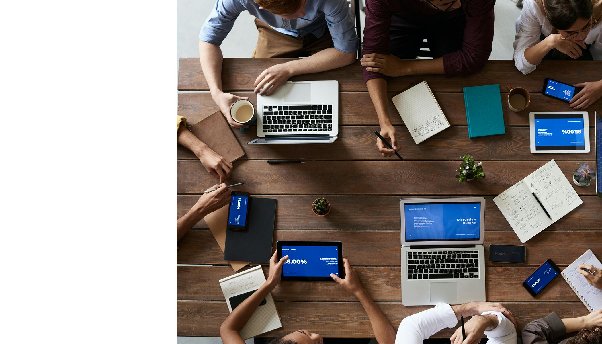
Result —
[{"label": "blue slide on the black tablet held in two hands", "polygon": [[337,246],[282,246],[282,257],[285,255],[288,260],[282,265],[283,276],[338,276]]}]

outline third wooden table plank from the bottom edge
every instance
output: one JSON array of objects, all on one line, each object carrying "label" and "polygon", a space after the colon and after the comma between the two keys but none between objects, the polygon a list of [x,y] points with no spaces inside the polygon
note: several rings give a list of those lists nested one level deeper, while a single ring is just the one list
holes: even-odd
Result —
[{"label": "third wooden table plank from the bottom edge", "polygon": [[[327,217],[326,217],[327,219]],[[343,255],[354,266],[400,266],[400,231],[274,231],[274,246],[278,240],[340,240]],[[485,264],[489,262],[489,245],[524,245],[527,265],[539,265],[552,258],[558,265],[573,263],[588,248],[602,257],[602,240],[597,231],[544,230],[524,244],[514,231],[488,231],[485,234]],[[209,230],[191,230],[178,242],[178,264],[225,265],[223,253]]]}]

